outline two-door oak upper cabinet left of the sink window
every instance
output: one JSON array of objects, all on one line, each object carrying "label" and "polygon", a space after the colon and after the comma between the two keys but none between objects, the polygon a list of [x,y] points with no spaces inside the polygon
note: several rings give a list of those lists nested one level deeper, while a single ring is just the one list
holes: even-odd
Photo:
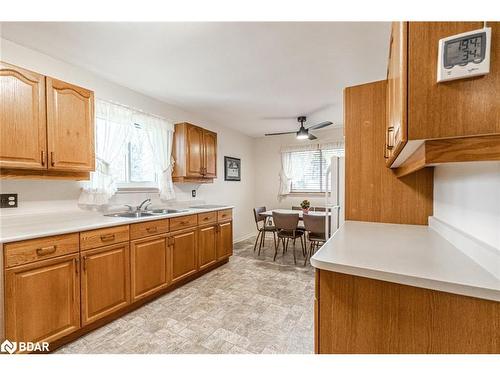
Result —
[{"label": "two-door oak upper cabinet left of the sink window", "polygon": [[88,179],[94,93],[0,62],[2,177]]}]

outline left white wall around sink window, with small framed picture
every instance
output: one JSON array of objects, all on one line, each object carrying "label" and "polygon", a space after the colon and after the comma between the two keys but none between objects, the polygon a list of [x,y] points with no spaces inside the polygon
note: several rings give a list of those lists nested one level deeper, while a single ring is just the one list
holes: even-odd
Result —
[{"label": "left white wall around sink window, with small framed picture", "polygon": [[[177,199],[179,201],[192,200],[191,190],[198,188],[196,200],[207,203],[221,203],[234,205],[234,237],[242,238],[254,230],[252,208],[254,196],[254,153],[253,139],[232,129],[221,127],[207,119],[193,113],[183,111],[181,108],[160,102],[126,87],[107,81],[98,75],[54,59],[32,49],[25,48],[5,39],[0,39],[0,59],[4,62],[19,65],[44,75],[52,76],[70,83],[89,88],[95,96],[101,99],[113,100],[143,111],[164,116],[175,122],[188,121],[217,132],[218,135],[218,160],[217,168],[219,177],[213,184],[203,185],[176,185]],[[140,69],[138,69],[140,72]],[[236,121],[236,119],[235,119]],[[224,156],[241,158],[241,182],[224,181]],[[70,200],[76,206],[81,184],[72,181],[1,181],[0,191],[18,193],[20,207],[8,209],[22,211],[27,206],[44,206],[50,204],[37,202]],[[137,202],[148,195],[120,195],[115,203]],[[154,198],[154,196],[153,196]],[[5,212],[6,209],[3,209]]]}]

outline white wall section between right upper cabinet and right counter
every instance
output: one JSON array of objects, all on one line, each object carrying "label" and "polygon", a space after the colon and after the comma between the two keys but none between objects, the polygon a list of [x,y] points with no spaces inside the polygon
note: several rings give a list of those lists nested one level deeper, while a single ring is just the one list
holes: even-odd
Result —
[{"label": "white wall section between right upper cabinet and right counter", "polygon": [[500,162],[437,166],[434,216],[500,250]]}]

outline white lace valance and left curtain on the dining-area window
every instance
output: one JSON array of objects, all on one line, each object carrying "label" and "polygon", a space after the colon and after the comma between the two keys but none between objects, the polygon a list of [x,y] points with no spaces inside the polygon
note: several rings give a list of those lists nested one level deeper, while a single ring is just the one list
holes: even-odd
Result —
[{"label": "white lace valance and left curtain on the dining-area window", "polygon": [[278,195],[283,198],[290,194],[292,182],[292,152],[314,151],[314,150],[334,150],[336,156],[344,156],[344,141],[296,144],[281,148],[281,171],[280,186]]}]

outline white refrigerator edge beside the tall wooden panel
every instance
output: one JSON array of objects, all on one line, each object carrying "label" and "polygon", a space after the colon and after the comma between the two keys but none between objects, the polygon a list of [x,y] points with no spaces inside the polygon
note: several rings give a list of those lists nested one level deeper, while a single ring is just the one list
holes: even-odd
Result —
[{"label": "white refrigerator edge beside the tall wooden panel", "polygon": [[326,171],[325,220],[326,237],[330,238],[344,223],[345,158],[333,156]]}]

